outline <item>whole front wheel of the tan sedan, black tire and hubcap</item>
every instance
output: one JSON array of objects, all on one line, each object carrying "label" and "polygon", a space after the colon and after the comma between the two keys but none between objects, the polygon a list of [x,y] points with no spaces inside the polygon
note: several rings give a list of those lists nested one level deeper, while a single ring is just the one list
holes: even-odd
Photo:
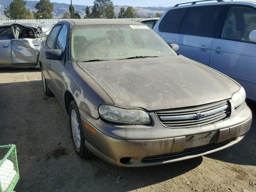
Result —
[{"label": "whole front wheel of the tan sedan, black tire and hubcap", "polygon": [[72,138],[72,143],[76,154],[81,158],[91,156],[91,152],[84,146],[84,133],[82,129],[81,118],[78,111],[78,107],[76,106],[74,100],[70,102],[68,117],[70,135]]}]

